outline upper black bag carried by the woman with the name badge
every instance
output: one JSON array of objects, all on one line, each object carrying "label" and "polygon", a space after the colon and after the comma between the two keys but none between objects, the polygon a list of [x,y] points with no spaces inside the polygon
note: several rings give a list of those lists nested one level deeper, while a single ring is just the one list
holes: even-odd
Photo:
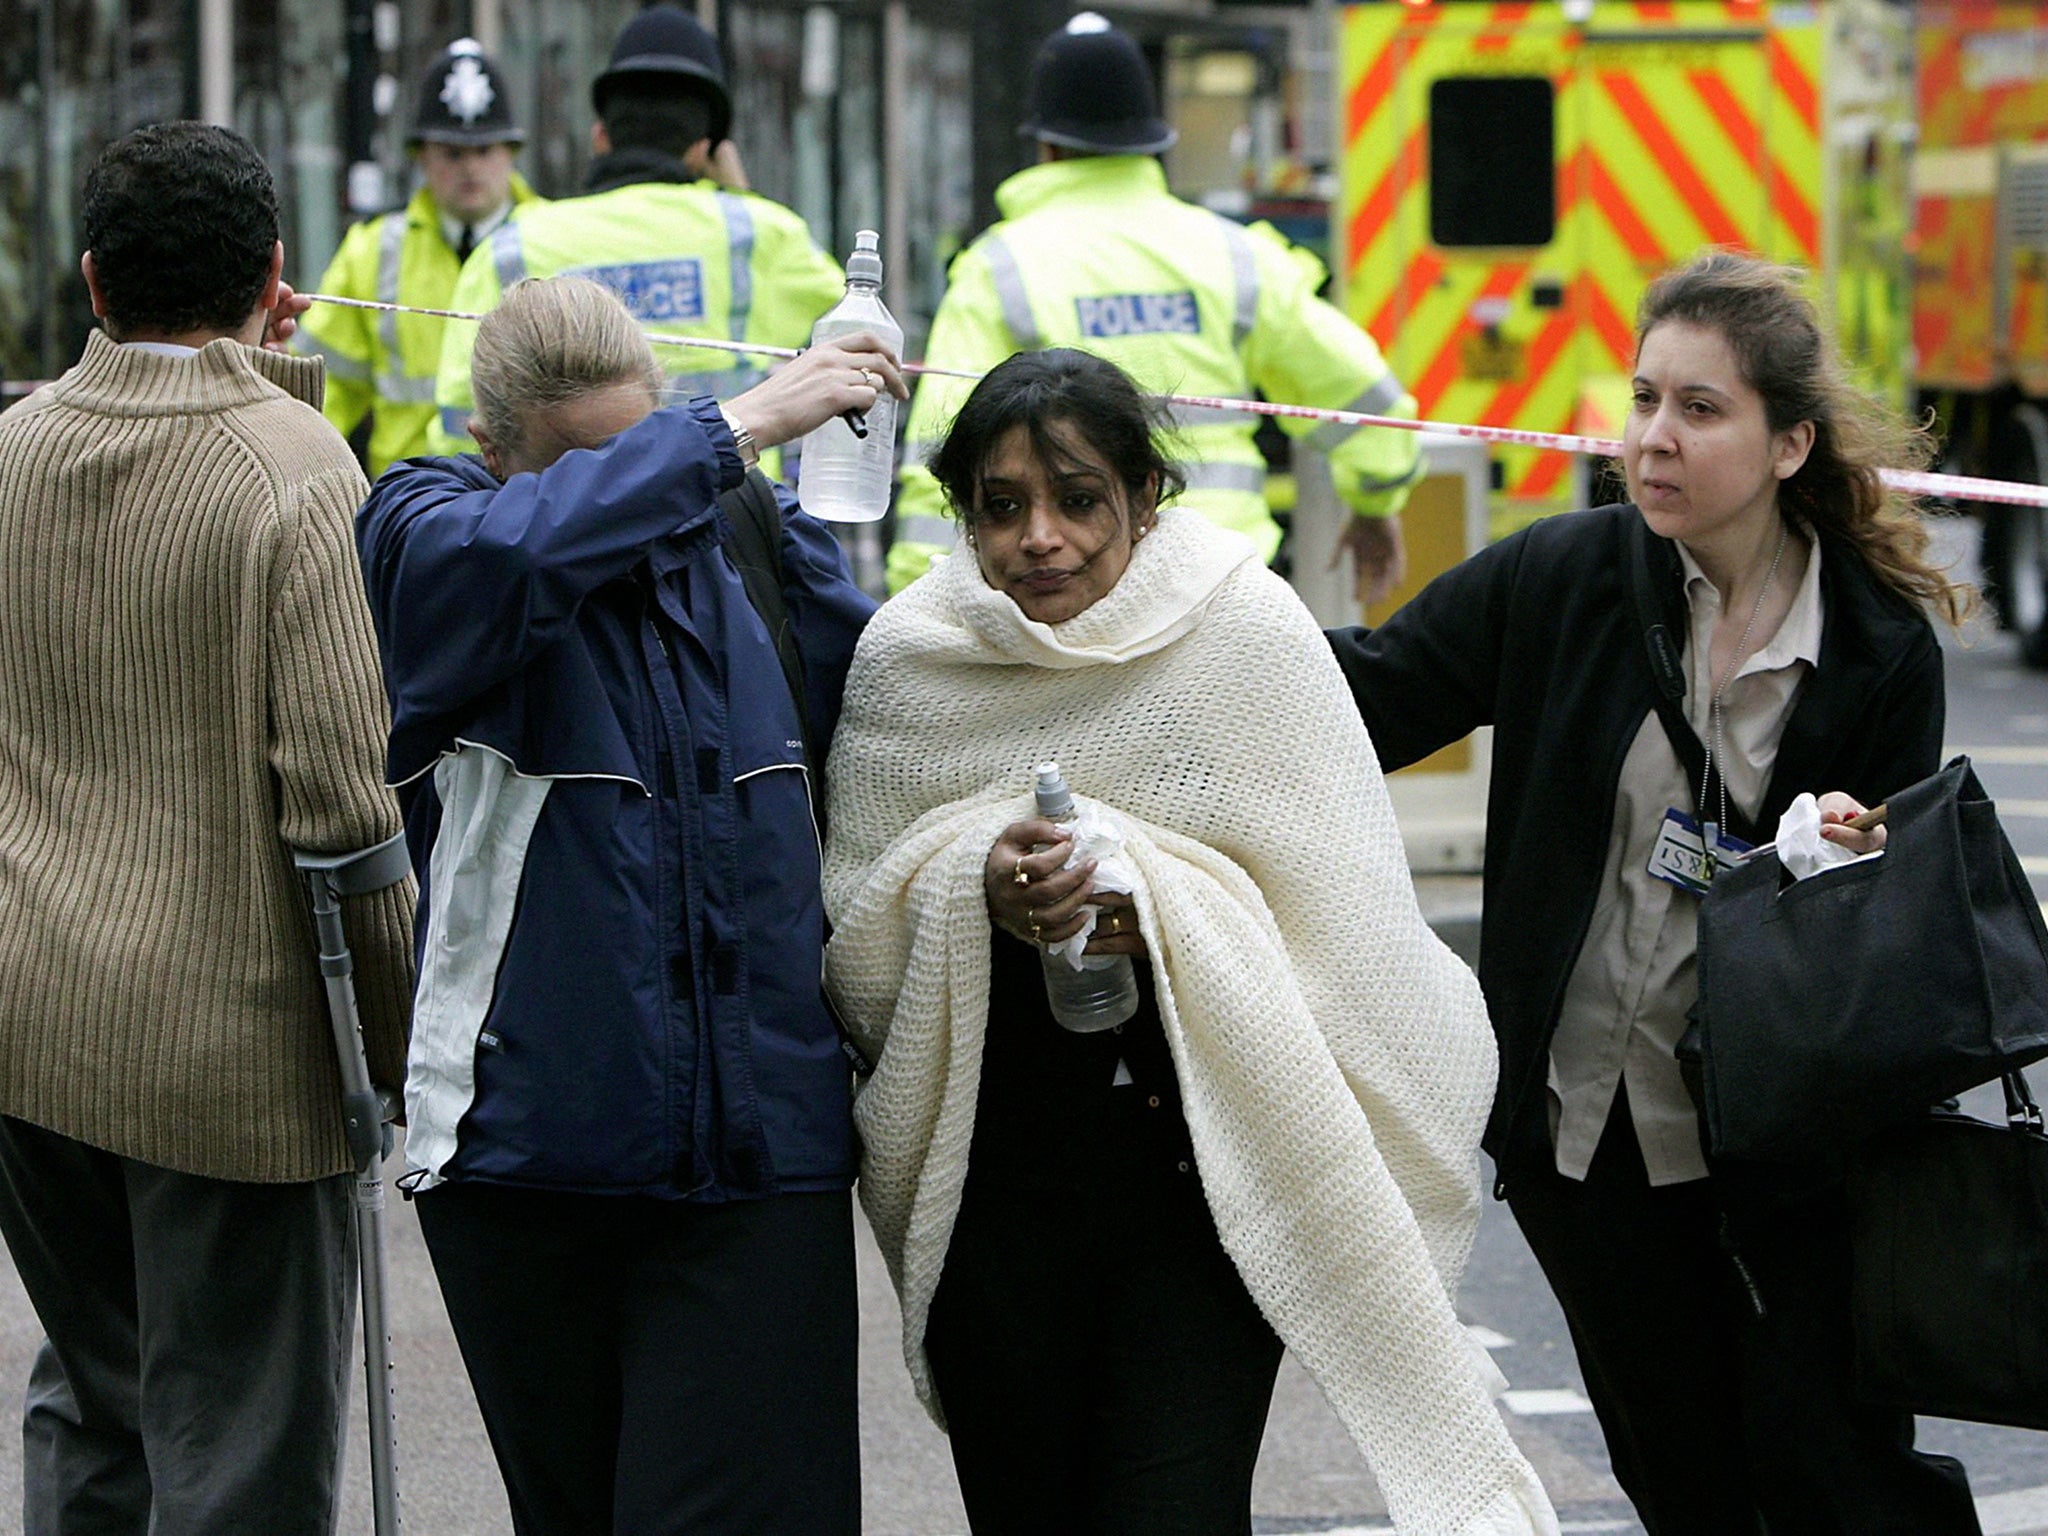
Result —
[{"label": "upper black bag carried by the woman with the name badge", "polygon": [[2048,1055],[2048,926],[1968,758],[1888,801],[1882,858],[1700,903],[1698,1055],[1720,1159],[1841,1167],[1872,1128]]}]

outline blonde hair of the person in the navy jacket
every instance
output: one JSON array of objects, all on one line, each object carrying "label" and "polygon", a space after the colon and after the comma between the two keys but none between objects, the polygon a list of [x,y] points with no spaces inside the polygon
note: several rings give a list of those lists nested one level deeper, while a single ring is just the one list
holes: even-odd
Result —
[{"label": "blonde hair of the person in the navy jacket", "polygon": [[588,276],[514,283],[469,358],[477,424],[500,453],[518,451],[535,412],[625,383],[662,399],[664,377],[627,307]]}]

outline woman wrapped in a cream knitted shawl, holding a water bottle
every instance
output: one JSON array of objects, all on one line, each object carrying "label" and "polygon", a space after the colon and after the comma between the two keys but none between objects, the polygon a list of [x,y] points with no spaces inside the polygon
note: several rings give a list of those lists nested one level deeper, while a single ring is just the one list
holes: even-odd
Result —
[{"label": "woman wrapped in a cream knitted shawl, holding a water bottle", "polygon": [[[854,657],[827,983],[877,1063],[860,1196],[977,1536],[1249,1532],[1282,1343],[1401,1532],[1554,1532],[1450,1300],[1493,1036],[1321,631],[1249,543],[1161,510],[1100,358],[1004,362],[932,467],[967,547]],[[1049,758],[1122,823],[1130,897],[1061,868]],[[1083,897],[1090,952],[1141,956],[1116,1032],[1061,1030],[1030,948]]]}]

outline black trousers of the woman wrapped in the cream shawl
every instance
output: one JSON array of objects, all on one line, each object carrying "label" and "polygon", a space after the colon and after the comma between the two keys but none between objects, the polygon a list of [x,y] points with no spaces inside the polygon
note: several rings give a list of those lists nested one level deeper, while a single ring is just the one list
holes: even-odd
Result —
[{"label": "black trousers of the woman wrapped in the cream shawl", "polygon": [[1192,1174],[969,1176],[926,1350],[975,1536],[1249,1536],[1280,1339]]}]

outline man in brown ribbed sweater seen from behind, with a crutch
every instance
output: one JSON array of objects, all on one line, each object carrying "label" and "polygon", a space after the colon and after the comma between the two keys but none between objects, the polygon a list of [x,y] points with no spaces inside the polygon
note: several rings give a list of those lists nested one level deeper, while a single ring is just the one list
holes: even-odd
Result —
[{"label": "man in brown ribbed sweater seen from behind, with a crutch", "polygon": [[[94,332],[0,416],[0,1231],[47,1341],[29,1532],[330,1536],[348,1153],[289,844],[399,829],[350,518],[238,135],[86,180]],[[283,309],[281,309],[283,303]],[[412,891],[346,907],[395,1085]]]}]

